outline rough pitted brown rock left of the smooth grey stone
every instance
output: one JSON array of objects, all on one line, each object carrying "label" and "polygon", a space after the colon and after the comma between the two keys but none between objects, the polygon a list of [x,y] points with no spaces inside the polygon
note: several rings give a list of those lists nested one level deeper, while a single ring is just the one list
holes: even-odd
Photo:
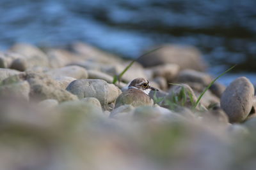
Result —
[{"label": "rough pitted brown rock left of the smooth grey stone", "polygon": [[39,100],[56,99],[59,102],[77,100],[77,96],[67,90],[61,89],[58,82],[54,81],[47,74],[42,73],[20,73],[6,78],[3,83],[28,81],[30,85],[29,97]]}]

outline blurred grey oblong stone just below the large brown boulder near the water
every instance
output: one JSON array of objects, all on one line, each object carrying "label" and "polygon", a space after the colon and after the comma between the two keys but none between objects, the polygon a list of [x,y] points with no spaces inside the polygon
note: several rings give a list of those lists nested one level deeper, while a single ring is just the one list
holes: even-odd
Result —
[{"label": "blurred grey oblong stone just below the large brown boulder near the water", "polygon": [[209,74],[206,73],[192,69],[184,69],[183,71],[180,71],[179,76],[177,77],[177,81],[180,83],[200,83],[206,87],[211,83],[212,78],[209,76]]}]

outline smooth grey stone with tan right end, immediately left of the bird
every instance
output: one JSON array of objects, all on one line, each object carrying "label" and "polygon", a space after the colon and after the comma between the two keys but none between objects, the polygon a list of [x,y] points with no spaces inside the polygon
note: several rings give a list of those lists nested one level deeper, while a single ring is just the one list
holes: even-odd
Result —
[{"label": "smooth grey stone with tan right end, immediately left of the bird", "polygon": [[67,90],[75,94],[79,99],[95,97],[100,101],[103,108],[106,108],[109,103],[113,103],[121,93],[121,90],[115,85],[99,79],[72,81]]}]

